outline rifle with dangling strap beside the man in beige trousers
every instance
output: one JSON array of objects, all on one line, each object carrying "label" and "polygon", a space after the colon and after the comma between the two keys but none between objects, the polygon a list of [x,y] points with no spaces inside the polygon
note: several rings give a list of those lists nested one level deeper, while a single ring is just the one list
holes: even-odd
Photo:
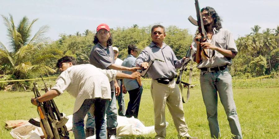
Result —
[{"label": "rifle with dangling strap beside the man in beige trousers", "polygon": [[[186,99],[186,102],[189,100],[190,98],[190,85],[192,83],[192,71],[193,71],[193,51],[192,51],[192,48],[190,47],[186,53],[186,59],[184,60],[183,64],[182,64],[182,67],[179,69],[179,75],[176,79],[176,84],[179,85],[179,88],[180,88],[180,92],[182,93],[182,102],[185,103],[184,101],[184,98],[183,98],[183,88],[182,88],[182,84],[184,86],[188,86],[188,91],[187,91],[187,99]],[[190,63],[190,72],[189,72],[189,82],[183,82],[181,81],[181,77],[182,77],[182,74],[184,71],[187,71],[187,65],[188,63]]]}]

